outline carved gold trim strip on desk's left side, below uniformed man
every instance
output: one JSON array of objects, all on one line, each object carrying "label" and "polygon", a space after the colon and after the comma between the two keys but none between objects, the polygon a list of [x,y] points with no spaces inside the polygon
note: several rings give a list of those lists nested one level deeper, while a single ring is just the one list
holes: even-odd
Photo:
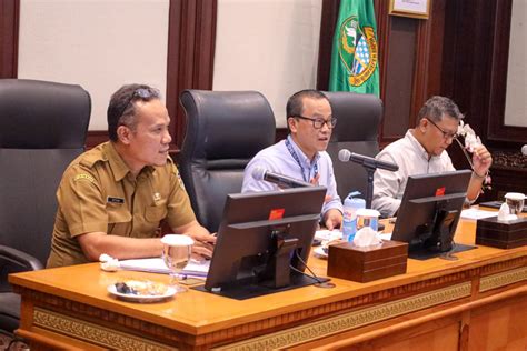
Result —
[{"label": "carved gold trim strip on desk's left side, below uniformed man", "polygon": [[54,333],[80,339],[100,347],[119,350],[178,350],[152,340],[133,337],[115,329],[101,327],[46,309],[36,308],[33,324]]}]

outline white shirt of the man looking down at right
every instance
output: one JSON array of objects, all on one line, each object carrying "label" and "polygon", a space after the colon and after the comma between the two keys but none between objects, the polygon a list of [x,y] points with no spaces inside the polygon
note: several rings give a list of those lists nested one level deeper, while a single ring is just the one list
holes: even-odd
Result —
[{"label": "white shirt of the man looking down at right", "polygon": [[392,217],[399,209],[408,177],[456,170],[446,151],[429,158],[410,130],[406,132],[405,138],[387,146],[376,159],[399,166],[396,172],[378,169],[374,176],[371,205],[382,217]]}]

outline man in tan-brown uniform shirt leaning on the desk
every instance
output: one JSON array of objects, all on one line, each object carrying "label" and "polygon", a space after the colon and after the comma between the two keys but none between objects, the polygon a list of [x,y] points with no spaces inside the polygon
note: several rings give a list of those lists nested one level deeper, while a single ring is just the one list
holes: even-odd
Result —
[{"label": "man in tan-brown uniform shirt leaning on the desk", "polygon": [[210,257],[215,237],[201,227],[168,156],[170,118],[159,91],[125,86],[108,107],[110,141],[79,156],[66,170],[57,199],[48,268],[159,257],[160,223],[195,239],[195,255]]}]

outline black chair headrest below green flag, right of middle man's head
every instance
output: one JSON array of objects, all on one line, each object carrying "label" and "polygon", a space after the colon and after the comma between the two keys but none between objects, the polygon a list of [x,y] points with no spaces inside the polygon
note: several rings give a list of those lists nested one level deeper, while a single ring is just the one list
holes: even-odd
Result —
[{"label": "black chair headrest below green flag, right of middle man's head", "polygon": [[325,91],[338,119],[331,141],[377,141],[382,101],[374,94]]}]

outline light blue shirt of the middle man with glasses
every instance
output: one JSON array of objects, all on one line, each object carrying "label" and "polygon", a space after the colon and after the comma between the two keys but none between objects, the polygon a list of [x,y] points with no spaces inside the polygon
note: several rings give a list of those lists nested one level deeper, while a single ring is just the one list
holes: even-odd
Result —
[{"label": "light blue shirt of the middle man with glasses", "polygon": [[[296,154],[298,156],[301,167],[289,152],[286,141],[281,140],[276,144],[258,152],[249,162],[249,164],[247,164],[243,171],[243,185],[241,192],[270,191],[279,189],[278,185],[271,182],[253,179],[252,172],[257,167],[260,167],[266,171],[280,173],[305,181],[311,180],[315,177],[315,169],[317,169],[318,174],[320,174],[318,183],[319,185],[327,188],[326,195],[329,197],[329,200],[324,203],[322,213],[326,213],[330,209],[337,209],[341,212],[342,203],[340,202],[340,198],[337,193],[334,164],[329,154],[326,151],[317,152],[311,162],[290,137],[288,137],[288,140],[292,147],[292,150],[295,150]],[[315,163],[317,167],[315,167]]]}]

